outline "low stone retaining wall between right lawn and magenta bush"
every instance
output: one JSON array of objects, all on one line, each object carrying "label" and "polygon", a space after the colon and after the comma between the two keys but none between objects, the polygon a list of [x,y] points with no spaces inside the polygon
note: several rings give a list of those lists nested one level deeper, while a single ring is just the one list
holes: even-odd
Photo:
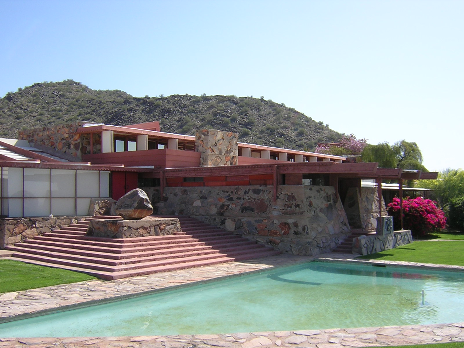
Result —
[{"label": "low stone retaining wall between right lawn and magenta bush", "polygon": [[412,242],[410,230],[394,231],[385,237],[382,235],[360,236],[353,239],[353,253],[361,255],[393,249]]}]

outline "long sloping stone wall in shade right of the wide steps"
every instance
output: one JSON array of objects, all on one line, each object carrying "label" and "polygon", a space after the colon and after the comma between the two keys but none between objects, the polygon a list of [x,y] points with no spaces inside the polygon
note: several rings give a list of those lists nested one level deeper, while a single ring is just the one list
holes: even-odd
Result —
[{"label": "long sloping stone wall in shade right of the wide steps", "polygon": [[[149,197],[155,198],[155,192]],[[333,187],[166,187],[155,214],[190,215],[294,255],[333,250],[349,234]]]}]

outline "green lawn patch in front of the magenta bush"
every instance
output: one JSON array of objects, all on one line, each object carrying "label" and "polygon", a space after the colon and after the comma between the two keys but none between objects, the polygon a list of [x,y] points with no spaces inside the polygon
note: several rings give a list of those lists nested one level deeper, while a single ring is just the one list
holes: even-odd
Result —
[{"label": "green lawn patch in front of the magenta bush", "polygon": [[464,266],[464,240],[449,242],[416,241],[358,258]]}]

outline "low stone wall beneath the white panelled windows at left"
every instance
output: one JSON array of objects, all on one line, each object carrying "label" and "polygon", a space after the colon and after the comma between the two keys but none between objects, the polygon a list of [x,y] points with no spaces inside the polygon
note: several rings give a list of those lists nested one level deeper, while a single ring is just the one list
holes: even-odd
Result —
[{"label": "low stone wall beneath the white panelled windows at left", "polygon": [[83,216],[0,219],[0,249],[84,219]]}]

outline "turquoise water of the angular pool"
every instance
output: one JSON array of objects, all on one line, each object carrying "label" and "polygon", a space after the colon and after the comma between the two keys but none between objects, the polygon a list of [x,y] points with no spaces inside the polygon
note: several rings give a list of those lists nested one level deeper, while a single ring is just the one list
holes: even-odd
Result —
[{"label": "turquoise water of the angular pool", "polygon": [[310,262],[7,322],[0,324],[0,337],[208,334],[462,321],[461,273]]}]

